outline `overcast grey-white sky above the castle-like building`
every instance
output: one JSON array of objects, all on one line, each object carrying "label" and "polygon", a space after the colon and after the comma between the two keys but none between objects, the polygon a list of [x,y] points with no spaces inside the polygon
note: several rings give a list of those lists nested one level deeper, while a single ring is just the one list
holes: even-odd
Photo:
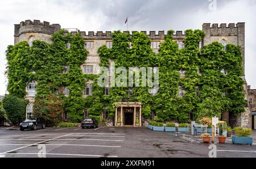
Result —
[{"label": "overcast grey-white sky above the castle-like building", "polygon": [[14,24],[37,19],[86,32],[125,31],[126,16],[129,31],[184,31],[201,29],[203,23],[245,22],[246,81],[256,88],[256,0],[10,0],[1,1],[0,9],[0,95],[6,93],[5,50],[14,44]]}]

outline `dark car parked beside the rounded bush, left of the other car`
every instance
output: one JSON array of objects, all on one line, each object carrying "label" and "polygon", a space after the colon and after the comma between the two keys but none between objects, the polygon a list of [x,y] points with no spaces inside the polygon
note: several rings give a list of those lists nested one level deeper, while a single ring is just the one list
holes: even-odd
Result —
[{"label": "dark car parked beside the rounded bush, left of the other car", "polygon": [[28,118],[19,124],[21,131],[24,131],[24,129],[36,130],[37,128],[45,128],[44,120],[41,117]]}]

